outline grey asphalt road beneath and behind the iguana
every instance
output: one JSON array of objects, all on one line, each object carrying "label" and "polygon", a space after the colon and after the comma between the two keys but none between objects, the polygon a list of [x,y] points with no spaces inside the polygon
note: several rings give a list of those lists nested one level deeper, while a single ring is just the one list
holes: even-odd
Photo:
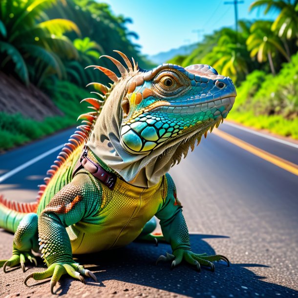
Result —
[{"label": "grey asphalt road beneath and behind the iguana", "polygon": [[[36,185],[42,183],[59,150],[23,170],[18,167],[64,144],[71,133],[72,129],[66,130],[0,155],[0,179],[17,169],[2,181],[0,192],[11,199],[31,201],[36,196]],[[227,136],[224,133],[232,136],[232,141],[223,138]],[[239,144],[245,144],[242,140],[274,154],[273,162],[249,151],[247,144],[235,145],[233,136]],[[155,266],[159,255],[170,252],[169,245],[132,243],[111,252],[79,256],[79,262],[96,274],[99,283],[87,278],[87,285],[83,285],[64,277],[56,286],[57,294],[115,298],[298,297],[297,165],[297,145],[289,146],[231,124],[221,125],[170,173],[184,206],[192,250],[226,255],[231,267],[220,262],[215,264],[215,273],[207,269],[197,273],[182,264],[171,271],[170,264]],[[0,237],[0,259],[8,258],[13,235],[0,230]],[[28,266],[26,274],[40,270]],[[0,277],[3,297],[51,297],[48,282],[25,287],[25,274],[20,269],[1,272]]]}]

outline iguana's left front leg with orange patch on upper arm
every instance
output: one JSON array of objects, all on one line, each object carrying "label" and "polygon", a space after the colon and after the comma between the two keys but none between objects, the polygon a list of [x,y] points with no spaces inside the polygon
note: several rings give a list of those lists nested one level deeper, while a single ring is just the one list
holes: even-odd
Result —
[{"label": "iguana's left front leg with orange patch on upper arm", "polygon": [[30,277],[41,280],[52,276],[53,294],[54,286],[66,273],[84,283],[84,275],[97,281],[94,274],[73,260],[71,243],[65,228],[96,213],[99,197],[89,175],[81,173],[52,198],[38,222],[40,250],[48,269],[30,274],[25,278],[25,284]]}]

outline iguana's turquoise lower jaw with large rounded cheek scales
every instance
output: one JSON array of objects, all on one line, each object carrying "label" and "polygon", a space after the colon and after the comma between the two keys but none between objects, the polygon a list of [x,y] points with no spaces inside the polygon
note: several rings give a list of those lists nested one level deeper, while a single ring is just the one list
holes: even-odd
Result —
[{"label": "iguana's turquoise lower jaw with large rounded cheek scales", "polygon": [[[193,136],[200,137],[208,129],[211,128],[212,130],[214,126],[218,127],[219,123],[227,117],[235,100],[235,94],[231,93],[231,95],[233,96],[186,105],[171,105],[169,102],[164,101],[156,102],[142,109],[139,113],[133,115],[127,123],[123,124],[121,146],[129,153],[144,154],[152,149],[169,144],[173,139],[177,141],[179,139],[183,142]],[[185,111],[181,113],[184,108]],[[163,117],[165,113],[167,114],[168,125],[165,123],[164,128],[156,129],[154,126],[146,126],[146,121],[154,124],[155,119]],[[183,116],[183,114],[187,116]],[[188,117],[187,125],[185,125],[185,117]],[[143,119],[146,119],[146,121],[143,122]],[[145,129],[147,129],[147,135]],[[129,140],[125,136],[126,133],[133,140]],[[147,138],[143,147],[141,147],[140,142],[142,137]]]}]

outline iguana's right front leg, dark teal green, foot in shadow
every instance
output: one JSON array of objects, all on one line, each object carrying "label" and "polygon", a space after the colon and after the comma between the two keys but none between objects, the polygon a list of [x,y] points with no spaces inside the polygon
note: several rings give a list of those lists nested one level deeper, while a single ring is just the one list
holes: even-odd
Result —
[{"label": "iguana's right front leg, dark teal green, foot in shadow", "polygon": [[156,213],[160,219],[163,235],[170,243],[172,254],[161,255],[159,261],[172,261],[171,268],[177,266],[184,259],[188,263],[195,265],[197,270],[201,270],[201,265],[211,267],[214,271],[213,261],[225,260],[230,266],[228,258],[223,255],[195,254],[191,250],[188,228],[182,214],[182,206],[176,199],[176,190],[169,174],[166,175],[168,182],[168,194],[161,210]]}]

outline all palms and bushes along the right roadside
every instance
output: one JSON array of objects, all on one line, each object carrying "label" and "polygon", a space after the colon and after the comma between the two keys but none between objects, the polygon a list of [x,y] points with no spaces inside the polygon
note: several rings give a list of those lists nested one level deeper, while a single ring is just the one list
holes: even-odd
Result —
[{"label": "all palms and bushes along the right roadside", "polygon": [[256,0],[250,9],[278,16],[222,28],[170,63],[212,65],[237,86],[228,119],[298,139],[298,0]]}]

